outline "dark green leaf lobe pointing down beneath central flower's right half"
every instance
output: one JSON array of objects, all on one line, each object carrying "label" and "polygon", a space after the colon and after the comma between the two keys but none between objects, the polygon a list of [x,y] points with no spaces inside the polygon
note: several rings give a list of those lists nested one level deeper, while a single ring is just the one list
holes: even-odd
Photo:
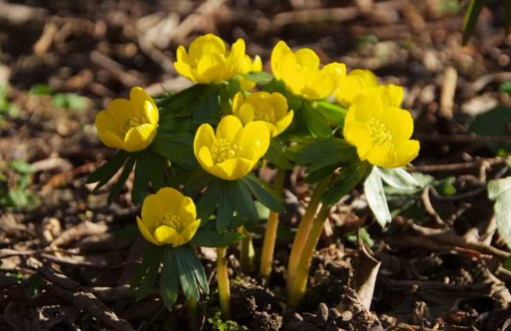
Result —
[{"label": "dark green leaf lobe pointing down beneath central flower's right half", "polygon": [[227,193],[234,210],[247,219],[247,230],[253,230],[259,218],[247,186],[243,185],[242,181],[229,181],[227,183]]}]

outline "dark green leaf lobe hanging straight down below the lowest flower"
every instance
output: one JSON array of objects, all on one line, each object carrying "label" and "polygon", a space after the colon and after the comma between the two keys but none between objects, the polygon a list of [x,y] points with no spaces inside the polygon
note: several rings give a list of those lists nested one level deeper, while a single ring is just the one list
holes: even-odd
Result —
[{"label": "dark green leaf lobe hanging straight down below the lowest flower", "polygon": [[173,248],[165,248],[162,277],[160,277],[160,296],[167,309],[171,309],[177,300],[179,291],[179,274]]}]

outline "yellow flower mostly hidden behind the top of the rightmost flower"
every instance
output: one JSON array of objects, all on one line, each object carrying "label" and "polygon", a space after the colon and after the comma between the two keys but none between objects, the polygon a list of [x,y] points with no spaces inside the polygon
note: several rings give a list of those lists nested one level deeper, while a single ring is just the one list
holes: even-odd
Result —
[{"label": "yellow flower mostly hidden behind the top of the rightmost flower", "polygon": [[403,102],[403,88],[392,84],[378,86],[370,70],[355,69],[340,79],[335,96],[343,107],[349,107],[358,94],[377,94],[388,106],[399,107]]}]

